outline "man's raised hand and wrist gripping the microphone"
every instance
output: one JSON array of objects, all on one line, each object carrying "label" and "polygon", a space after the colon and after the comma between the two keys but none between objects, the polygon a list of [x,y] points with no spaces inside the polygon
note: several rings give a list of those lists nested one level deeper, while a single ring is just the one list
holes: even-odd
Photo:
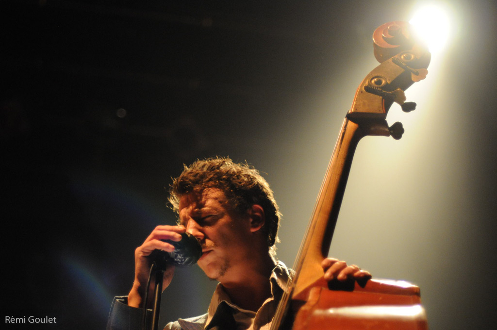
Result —
[{"label": "man's raised hand and wrist gripping the microphone", "polygon": [[[149,277],[152,260],[150,254],[156,250],[164,250],[166,252],[174,251],[174,247],[162,240],[170,240],[179,242],[181,234],[186,231],[184,226],[157,226],[152,233],[147,237],[143,244],[135,249],[135,281],[133,288],[128,295],[128,305],[131,307],[143,308],[146,294],[147,280]],[[168,266],[164,273],[163,290],[169,285],[174,274],[174,266]],[[152,283],[153,284],[153,283]],[[152,289],[149,288],[149,298],[152,299]]]}]

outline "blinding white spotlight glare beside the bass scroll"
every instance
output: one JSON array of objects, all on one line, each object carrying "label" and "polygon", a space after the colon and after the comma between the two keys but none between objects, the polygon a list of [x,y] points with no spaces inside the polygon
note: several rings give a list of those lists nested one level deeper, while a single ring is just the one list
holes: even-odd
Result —
[{"label": "blinding white spotlight glare beside the bass scroll", "polygon": [[436,4],[419,7],[409,23],[414,26],[431,54],[439,53],[447,44],[450,34],[450,19],[446,8]]}]

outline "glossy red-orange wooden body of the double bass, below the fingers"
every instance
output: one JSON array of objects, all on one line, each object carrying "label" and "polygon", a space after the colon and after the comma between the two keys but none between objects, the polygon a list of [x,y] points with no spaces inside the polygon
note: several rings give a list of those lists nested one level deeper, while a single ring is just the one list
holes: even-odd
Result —
[{"label": "glossy red-orange wooden body of the double bass, below the fingers", "polygon": [[[419,287],[403,281],[373,279],[353,291],[335,291],[326,281],[310,288],[298,308],[293,330],[426,330]],[[323,286],[323,284],[325,286]],[[300,305],[292,301],[293,306]]]}]

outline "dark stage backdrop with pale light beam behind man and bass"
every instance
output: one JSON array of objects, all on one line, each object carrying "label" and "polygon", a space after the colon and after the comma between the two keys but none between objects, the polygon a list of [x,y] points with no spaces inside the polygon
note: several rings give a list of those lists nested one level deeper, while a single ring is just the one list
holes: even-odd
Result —
[{"label": "dark stage backdrop with pale light beam behind man and bass", "polygon": [[[489,329],[497,6],[442,3],[450,42],[407,92],[418,109],[401,114],[404,138],[361,142],[331,254],[419,285],[431,329]],[[1,317],[104,328],[134,248],[174,221],[170,177],[196,158],[266,173],[291,266],[340,122],[377,65],[371,35],[415,4],[1,1]],[[196,267],[178,273],[163,323],[204,313],[215,286]]]}]

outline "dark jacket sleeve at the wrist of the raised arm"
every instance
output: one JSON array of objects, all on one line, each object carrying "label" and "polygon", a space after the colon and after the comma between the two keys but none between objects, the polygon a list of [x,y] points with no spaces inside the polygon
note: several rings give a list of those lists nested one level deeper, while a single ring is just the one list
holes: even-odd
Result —
[{"label": "dark jacket sleeve at the wrist of the raised arm", "polygon": [[[128,297],[115,297],[110,306],[107,330],[141,330],[143,309],[128,306]],[[147,310],[147,327],[152,323],[152,310]]]}]

